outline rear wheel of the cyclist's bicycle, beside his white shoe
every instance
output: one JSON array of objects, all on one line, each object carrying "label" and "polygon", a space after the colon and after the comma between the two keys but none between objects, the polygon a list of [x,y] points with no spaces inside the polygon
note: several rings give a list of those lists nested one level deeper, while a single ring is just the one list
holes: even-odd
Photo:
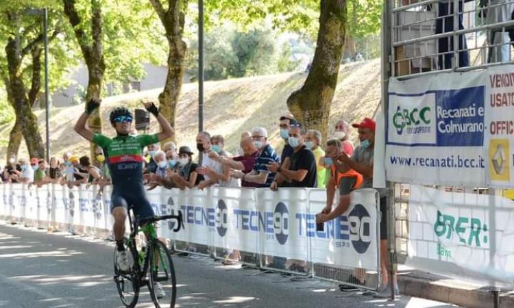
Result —
[{"label": "rear wheel of the cyclist's bicycle, beside his white shoe", "polygon": [[127,246],[125,244],[130,270],[128,272],[122,272],[116,264],[116,251],[117,248],[114,248],[114,282],[116,283],[116,288],[123,305],[132,308],[136,306],[139,297],[138,266],[135,261],[137,259],[134,257],[137,256],[137,252],[132,245]]}]

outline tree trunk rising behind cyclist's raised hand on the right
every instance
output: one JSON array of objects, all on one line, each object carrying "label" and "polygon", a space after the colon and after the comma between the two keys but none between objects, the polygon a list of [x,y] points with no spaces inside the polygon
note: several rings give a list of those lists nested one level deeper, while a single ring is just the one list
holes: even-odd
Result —
[{"label": "tree trunk rising behind cyclist's raised hand on the right", "polygon": [[[164,90],[159,94],[159,105],[162,116],[166,118],[171,127],[175,127],[175,114],[184,79],[184,59],[187,45],[182,40],[184,35],[185,12],[181,8],[187,7],[187,1],[170,0],[168,10],[164,10],[160,0],[149,0],[154,6],[168,40],[168,74]],[[174,139],[174,137],[173,137]],[[166,142],[167,140],[164,140]]]}]

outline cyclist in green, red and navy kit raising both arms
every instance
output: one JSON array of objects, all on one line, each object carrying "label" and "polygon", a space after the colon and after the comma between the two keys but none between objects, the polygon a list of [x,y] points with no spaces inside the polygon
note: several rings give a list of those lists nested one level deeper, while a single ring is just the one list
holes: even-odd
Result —
[{"label": "cyclist in green, red and navy kit raising both arms", "polygon": [[168,121],[159,114],[154,103],[144,103],[145,109],[156,116],[162,131],[154,135],[131,136],[132,112],[125,107],[116,107],[110,113],[109,119],[112,127],[116,129],[117,136],[108,138],[100,133],[93,133],[87,127],[89,115],[100,106],[100,101],[88,101],[86,111],[75,124],[75,131],[90,142],[100,146],[106,154],[112,179],[111,214],[114,218],[114,238],[116,239],[116,262],[121,271],[129,270],[127,253],[123,245],[125,234],[125,220],[128,206],[133,207],[136,216],[140,219],[154,216],[154,211],[145,194],[143,186],[143,148],[173,136],[173,128]]}]

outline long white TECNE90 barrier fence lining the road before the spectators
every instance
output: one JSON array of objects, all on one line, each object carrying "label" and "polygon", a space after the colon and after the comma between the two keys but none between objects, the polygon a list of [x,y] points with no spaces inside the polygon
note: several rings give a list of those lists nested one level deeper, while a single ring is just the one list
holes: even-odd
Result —
[{"label": "long white TECNE90 barrier fence lining the road before the spectators", "polygon": [[[2,186],[0,217],[13,223],[79,234],[101,235],[112,229],[110,187],[69,189]],[[380,282],[378,194],[352,192],[349,209],[317,231],[315,214],[326,204],[325,190],[281,188],[278,192],[249,188],[166,190],[147,193],[157,215],[182,211],[185,229],[172,231],[163,222],[158,236],[173,241],[178,251],[225,258],[241,255],[243,262],[265,270],[377,290]],[[208,248],[203,251],[200,248]],[[349,280],[349,281],[347,281]]]}]

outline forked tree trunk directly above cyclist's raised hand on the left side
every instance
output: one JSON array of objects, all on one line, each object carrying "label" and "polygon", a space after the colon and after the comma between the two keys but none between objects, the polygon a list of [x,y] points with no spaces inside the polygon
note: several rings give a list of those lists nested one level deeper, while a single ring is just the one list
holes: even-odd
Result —
[{"label": "forked tree trunk directly above cyclist's raised hand on the left side", "polygon": [[[88,68],[88,87],[86,92],[86,102],[90,99],[101,99],[101,89],[103,75],[106,71],[106,62],[103,58],[102,44],[102,19],[101,19],[101,1],[91,1],[91,38],[88,38],[86,32],[82,29],[82,18],[79,16],[75,8],[75,0],[63,0],[64,14],[68,17],[69,22],[75,32],[75,38],[79,43],[80,50],[84,56],[84,61]],[[86,104],[84,104],[84,109]],[[95,133],[101,133],[101,116],[100,110],[95,110],[88,118],[88,126]],[[97,163],[95,157],[96,145],[90,144],[90,157],[93,164]]]}]

